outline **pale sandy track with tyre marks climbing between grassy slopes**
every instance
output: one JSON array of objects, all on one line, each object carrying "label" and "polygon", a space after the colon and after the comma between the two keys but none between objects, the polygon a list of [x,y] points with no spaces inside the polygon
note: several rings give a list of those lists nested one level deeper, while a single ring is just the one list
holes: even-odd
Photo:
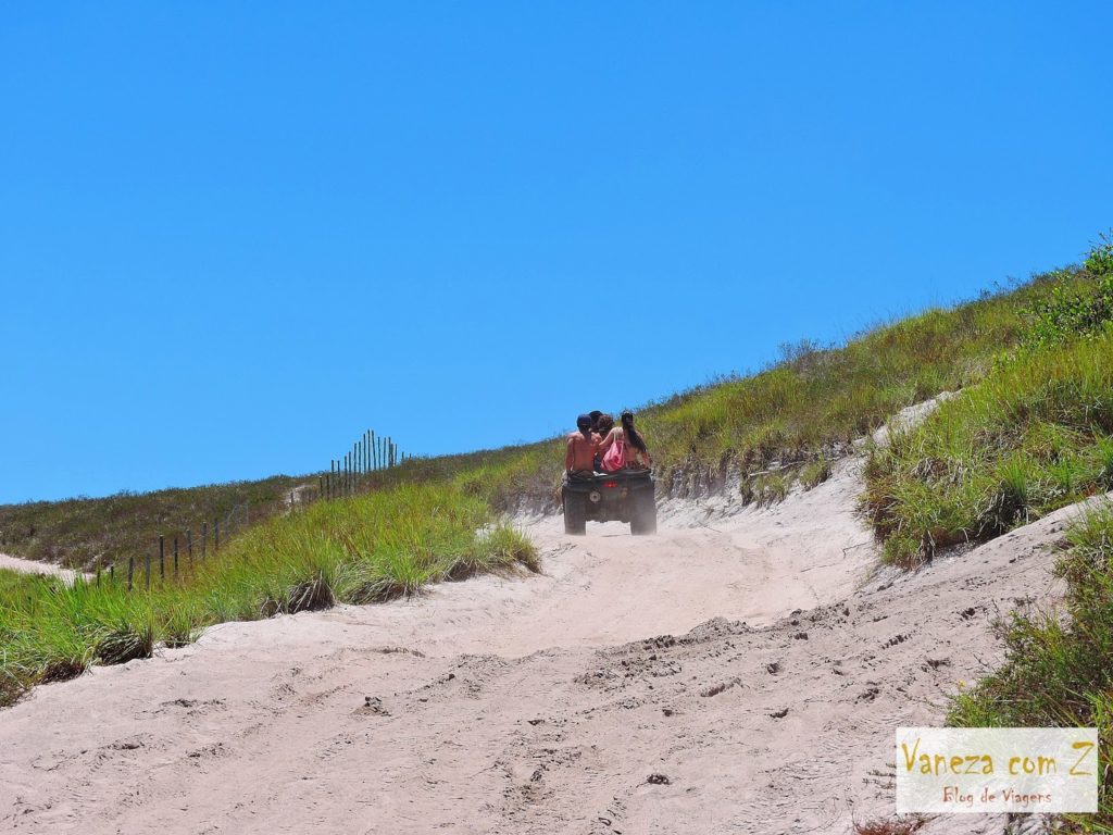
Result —
[{"label": "pale sandy track with tyre marks climbing between grassy slopes", "polygon": [[1054,597],[1077,512],[870,577],[858,466],[768,510],[667,505],[650,538],[535,520],[542,576],[38,688],[0,714],[0,829],[850,832],[892,813],[893,729],[998,661],[995,613]]}]

